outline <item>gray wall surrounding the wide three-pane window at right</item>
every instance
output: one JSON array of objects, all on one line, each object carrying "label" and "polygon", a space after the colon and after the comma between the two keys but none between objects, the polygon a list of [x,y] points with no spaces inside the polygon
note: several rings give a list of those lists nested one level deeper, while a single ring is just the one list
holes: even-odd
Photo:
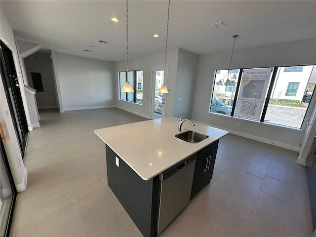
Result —
[{"label": "gray wall surrounding the wide three-pane window at right", "polygon": [[[236,44],[238,44],[238,41]],[[230,57],[231,52],[207,54],[199,57],[192,118],[215,127],[235,131],[236,133],[243,133],[298,148],[302,141],[306,124],[302,126],[302,131],[294,131],[259,122],[250,122],[208,113],[214,83],[214,72],[217,69],[227,69]],[[316,39],[235,50],[231,68],[308,64],[316,64]],[[308,109],[307,117],[311,115],[312,110],[313,108]],[[240,127],[237,127],[237,124],[240,124]]]}]

